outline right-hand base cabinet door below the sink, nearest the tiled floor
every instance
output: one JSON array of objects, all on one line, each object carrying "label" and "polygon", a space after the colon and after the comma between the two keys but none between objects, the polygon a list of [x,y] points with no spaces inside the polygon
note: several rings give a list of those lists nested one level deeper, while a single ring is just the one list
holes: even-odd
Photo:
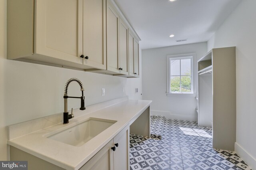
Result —
[{"label": "right-hand base cabinet door below the sink, nearest the tiled floor", "polygon": [[118,144],[114,152],[114,170],[130,170],[129,134],[129,126],[126,126],[114,137],[114,144]]}]

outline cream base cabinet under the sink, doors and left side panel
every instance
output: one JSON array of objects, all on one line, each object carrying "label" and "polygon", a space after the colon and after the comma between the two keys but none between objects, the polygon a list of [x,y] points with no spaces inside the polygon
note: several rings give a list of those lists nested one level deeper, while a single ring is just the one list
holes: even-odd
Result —
[{"label": "cream base cabinet under the sink, doors and left side panel", "polygon": [[[130,128],[127,125],[80,170],[130,170]],[[64,170],[50,162],[10,146],[10,160],[27,160],[28,170]]]}]

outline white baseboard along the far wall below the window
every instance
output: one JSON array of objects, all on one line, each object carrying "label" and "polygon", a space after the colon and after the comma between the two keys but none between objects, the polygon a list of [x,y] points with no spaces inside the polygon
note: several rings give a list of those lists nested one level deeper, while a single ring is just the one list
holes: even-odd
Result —
[{"label": "white baseboard along the far wall below the window", "polygon": [[174,120],[182,120],[182,121],[194,121],[197,122],[197,115],[178,115],[178,114],[171,114],[167,111],[150,111],[151,115],[156,116],[164,116],[166,119],[174,119]]}]

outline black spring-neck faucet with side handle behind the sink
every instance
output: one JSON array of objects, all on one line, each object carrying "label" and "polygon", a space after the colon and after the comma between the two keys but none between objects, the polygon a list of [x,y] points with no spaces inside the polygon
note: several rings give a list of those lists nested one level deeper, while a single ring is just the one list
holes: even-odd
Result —
[{"label": "black spring-neck faucet with side handle behind the sink", "polygon": [[[72,82],[72,81],[76,81],[79,85],[80,85],[80,90],[82,91],[82,96],[81,97],[71,97],[68,96],[68,85]],[[77,78],[71,78],[67,81],[66,85],[65,85],[65,89],[64,89],[64,113],[63,113],[63,124],[68,124],[68,120],[72,119],[74,117],[73,113],[71,113],[70,115],[68,115],[68,98],[77,98],[77,99],[81,99],[81,107],[80,110],[85,110],[84,107],[84,87],[82,82],[77,79]]]}]

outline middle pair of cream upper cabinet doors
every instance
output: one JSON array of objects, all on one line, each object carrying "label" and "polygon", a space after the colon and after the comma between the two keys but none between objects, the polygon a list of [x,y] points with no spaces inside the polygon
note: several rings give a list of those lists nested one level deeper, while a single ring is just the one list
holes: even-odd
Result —
[{"label": "middle pair of cream upper cabinet doors", "polygon": [[128,26],[107,0],[107,73],[128,75]]}]

